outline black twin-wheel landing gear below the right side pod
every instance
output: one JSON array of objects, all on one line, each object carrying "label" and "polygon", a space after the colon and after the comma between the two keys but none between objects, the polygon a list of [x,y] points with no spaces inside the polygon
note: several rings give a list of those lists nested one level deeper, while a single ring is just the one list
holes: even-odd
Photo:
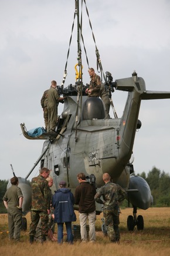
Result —
[{"label": "black twin-wheel landing gear below the right side pod", "polygon": [[133,215],[129,215],[127,218],[127,228],[129,231],[133,231],[135,225],[137,225],[137,230],[144,230],[144,218],[142,215],[137,217],[137,207],[133,206]]}]

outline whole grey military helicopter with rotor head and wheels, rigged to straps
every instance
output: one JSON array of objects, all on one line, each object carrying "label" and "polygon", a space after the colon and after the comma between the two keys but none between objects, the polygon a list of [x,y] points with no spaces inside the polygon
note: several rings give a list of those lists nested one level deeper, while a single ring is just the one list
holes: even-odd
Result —
[{"label": "whole grey military helicopter with rotor head and wheels, rigged to straps", "polygon": [[[83,2],[83,1],[82,1]],[[84,1],[86,4],[86,1]],[[111,181],[121,185],[127,191],[127,200],[132,204],[133,214],[127,218],[128,230],[144,229],[142,215],[137,216],[137,208],[147,210],[152,204],[152,195],[149,185],[142,177],[132,175],[132,152],[135,133],[141,128],[138,119],[142,100],[170,98],[170,92],[147,91],[145,81],[133,71],[131,77],[115,79],[110,72],[103,72],[100,55],[96,48],[97,64],[104,77],[104,86],[110,95],[114,118],[106,118],[103,101],[97,97],[87,97],[88,85],[83,84],[81,60],[81,25],[79,17],[79,0],[75,1],[74,16],[77,16],[77,60],[76,82],[64,87],[66,80],[66,67],[63,82],[57,86],[59,95],[66,97],[63,111],[57,121],[56,131],[53,134],[43,132],[31,137],[25,124],[21,124],[22,133],[27,139],[43,139],[42,154],[25,178],[19,178],[19,187],[23,192],[23,214],[30,209],[31,190],[28,182],[29,175],[40,162],[40,168],[52,170],[54,190],[59,182],[65,180],[67,187],[77,187],[77,174],[84,172],[87,180],[95,183],[96,188],[104,185],[102,176],[105,172],[110,174]],[[68,51],[69,53],[69,51]],[[77,70],[77,67],[79,71]],[[127,93],[123,115],[117,117],[111,94],[117,91]],[[78,210],[78,205],[74,208]],[[96,203],[96,212],[100,214],[101,205]]]}]

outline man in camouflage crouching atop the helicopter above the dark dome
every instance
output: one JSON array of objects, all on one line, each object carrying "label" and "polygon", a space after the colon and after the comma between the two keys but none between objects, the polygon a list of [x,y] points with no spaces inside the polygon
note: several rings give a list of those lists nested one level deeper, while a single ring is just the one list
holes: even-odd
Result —
[{"label": "man in camouflage crouching atop the helicopter above the dark dome", "polygon": [[101,87],[101,80],[99,75],[94,73],[94,68],[89,69],[89,75],[91,78],[90,86],[86,89],[86,94],[88,97],[100,97],[100,87]]}]

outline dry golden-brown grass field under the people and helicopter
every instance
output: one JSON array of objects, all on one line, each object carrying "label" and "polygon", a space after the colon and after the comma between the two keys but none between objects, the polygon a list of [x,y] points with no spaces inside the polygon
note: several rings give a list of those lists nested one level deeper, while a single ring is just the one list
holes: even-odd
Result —
[{"label": "dry golden-brown grass field under the people and helicopter", "polygon": [[[76,212],[77,214],[77,212]],[[132,209],[121,210],[120,214],[120,244],[110,244],[108,237],[101,232],[102,214],[97,215],[96,221],[96,244],[80,244],[74,241],[74,245],[58,245],[56,242],[47,241],[45,244],[29,244],[30,215],[26,216],[28,231],[22,231],[21,242],[18,244],[9,242],[8,220],[6,214],[0,214],[0,255],[123,255],[123,256],[146,256],[170,255],[170,208],[150,208],[147,211],[138,210],[138,215],[144,217],[144,230],[127,231],[127,217],[132,215]],[[78,216],[78,214],[77,214]],[[73,224],[79,224],[79,217]],[[2,232],[3,231],[3,232]],[[56,230],[57,232],[57,230]]]}]

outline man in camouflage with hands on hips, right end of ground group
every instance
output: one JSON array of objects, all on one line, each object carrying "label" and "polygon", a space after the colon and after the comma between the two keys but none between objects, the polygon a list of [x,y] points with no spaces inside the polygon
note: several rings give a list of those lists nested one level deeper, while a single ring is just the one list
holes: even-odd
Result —
[{"label": "man in camouflage with hands on hips, right end of ground group", "polygon": [[[118,184],[114,184],[110,181],[110,175],[105,173],[103,174],[103,181],[105,185],[101,187],[94,199],[99,204],[103,204],[103,216],[105,224],[107,225],[107,233],[111,242],[119,242],[120,240],[120,231],[118,225],[119,213],[118,213],[118,202],[121,202],[127,197],[127,193],[123,188]],[[100,199],[101,195],[103,196],[102,201]]]}]

